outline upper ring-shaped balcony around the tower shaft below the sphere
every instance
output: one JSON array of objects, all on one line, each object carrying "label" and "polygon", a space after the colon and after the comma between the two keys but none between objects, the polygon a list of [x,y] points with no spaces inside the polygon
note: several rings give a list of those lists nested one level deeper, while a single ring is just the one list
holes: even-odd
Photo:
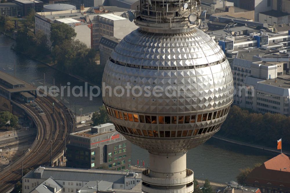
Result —
[{"label": "upper ring-shaped balcony around the tower shaft below the sphere", "polygon": [[152,185],[176,186],[188,184],[193,181],[193,171],[191,169],[186,169],[186,177],[184,178],[152,178],[148,176],[149,173],[149,169],[146,169],[142,172],[142,181]]}]

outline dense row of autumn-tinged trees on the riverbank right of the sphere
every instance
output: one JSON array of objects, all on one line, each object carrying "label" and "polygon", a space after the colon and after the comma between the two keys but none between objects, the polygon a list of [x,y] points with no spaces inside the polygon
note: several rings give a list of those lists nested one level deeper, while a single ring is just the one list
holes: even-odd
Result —
[{"label": "dense row of autumn-tinged trees on the riverbank right of the sphere", "polygon": [[232,106],[218,135],[271,148],[283,138],[284,147],[289,147],[289,123],[290,117],[281,114],[261,114]]}]

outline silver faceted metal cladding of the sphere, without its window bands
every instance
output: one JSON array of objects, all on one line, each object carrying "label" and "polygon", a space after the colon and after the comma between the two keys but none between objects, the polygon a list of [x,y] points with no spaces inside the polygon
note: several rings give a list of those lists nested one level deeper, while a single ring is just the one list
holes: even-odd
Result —
[{"label": "silver faceted metal cladding of the sphere, without its window bands", "polygon": [[[159,86],[163,91],[150,96],[122,97],[103,90],[104,104],[122,112],[151,116],[185,116],[211,113],[229,107],[233,101],[233,77],[229,62],[220,47],[206,33],[197,28],[185,33],[150,33],[140,28],[128,34],[117,45],[103,74],[105,86],[112,90],[127,83],[153,91]],[[165,93],[166,88],[172,86]],[[131,90],[130,90],[131,91]],[[131,93],[131,92],[130,92]],[[158,131],[179,131],[220,126],[226,115],[214,120],[193,124],[146,124],[117,119],[115,125]],[[180,152],[208,140],[216,131],[201,135],[162,138],[124,134],[138,146],[156,152]]]}]

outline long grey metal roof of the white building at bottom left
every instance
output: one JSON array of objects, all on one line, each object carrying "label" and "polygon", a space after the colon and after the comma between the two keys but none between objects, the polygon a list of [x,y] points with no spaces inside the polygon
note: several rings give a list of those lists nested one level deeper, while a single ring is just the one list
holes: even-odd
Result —
[{"label": "long grey metal roof of the white building at bottom left", "polygon": [[[63,167],[45,167],[37,168],[43,170],[41,179],[48,179],[52,177],[55,180],[65,181],[108,181],[113,183],[125,183],[126,172],[113,170],[97,170],[97,169],[77,169],[77,168],[63,168]],[[30,171],[23,178],[35,178],[34,172],[37,169]]]}]

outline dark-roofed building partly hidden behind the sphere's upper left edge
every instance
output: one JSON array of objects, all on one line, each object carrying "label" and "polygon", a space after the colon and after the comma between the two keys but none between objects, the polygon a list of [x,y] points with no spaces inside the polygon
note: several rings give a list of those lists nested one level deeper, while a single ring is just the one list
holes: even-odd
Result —
[{"label": "dark-roofed building partly hidden behind the sphere's upper left edge", "polygon": [[100,65],[106,65],[112,51],[121,40],[116,37],[103,36],[100,40]]}]

